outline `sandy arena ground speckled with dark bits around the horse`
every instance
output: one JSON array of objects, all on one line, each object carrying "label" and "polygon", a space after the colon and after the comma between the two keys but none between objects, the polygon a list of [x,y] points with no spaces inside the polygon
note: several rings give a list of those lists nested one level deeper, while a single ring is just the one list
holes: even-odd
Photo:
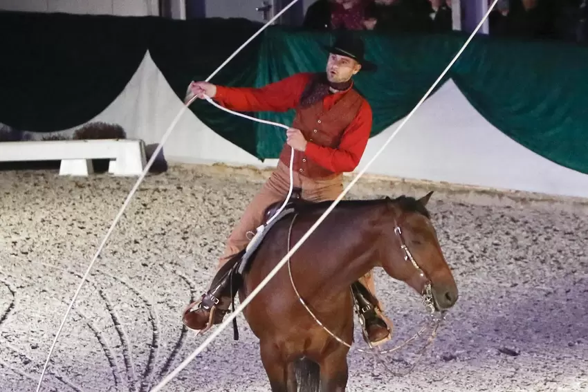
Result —
[{"label": "sandy arena ground speckled with dark bits around the horse", "polygon": [[[204,290],[230,227],[267,173],[170,167],[149,176],[86,282],[42,391],[149,391],[203,341],[181,310]],[[136,179],[0,173],[0,390],[35,391],[82,274]],[[361,180],[354,198],[431,189]],[[459,286],[432,349],[410,375],[349,355],[348,391],[588,391],[588,207],[439,189],[430,211]],[[411,336],[425,312],[403,283],[376,285]],[[257,339],[239,316],[166,391],[268,391]],[[366,348],[356,327],[358,346]],[[384,357],[404,371],[424,340]]]}]

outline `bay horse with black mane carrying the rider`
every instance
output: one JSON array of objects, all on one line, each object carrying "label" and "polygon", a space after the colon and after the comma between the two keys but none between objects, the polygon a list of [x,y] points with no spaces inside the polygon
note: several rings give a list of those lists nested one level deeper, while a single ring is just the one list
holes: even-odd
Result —
[{"label": "bay horse with black mane carrying the rider", "polygon": [[[349,347],[311,317],[293,284],[315,317],[348,344],[353,342],[350,287],[373,268],[383,268],[421,295],[428,290],[436,310],[455,304],[457,286],[425,207],[431,195],[340,201],[293,254],[290,265],[250,301],[243,313],[259,339],[271,391],[295,392],[300,386],[301,392],[342,392],[347,386]],[[270,228],[248,261],[237,286],[241,301],[331,203],[289,200],[295,212]]]}]

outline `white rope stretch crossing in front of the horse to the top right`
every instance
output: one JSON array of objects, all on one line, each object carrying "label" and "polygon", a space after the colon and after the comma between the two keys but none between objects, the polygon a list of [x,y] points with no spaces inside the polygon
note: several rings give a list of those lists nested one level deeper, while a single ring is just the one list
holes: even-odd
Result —
[{"label": "white rope stretch crossing in front of the horse to the top right", "polygon": [[199,355],[199,353],[201,353],[204,350],[204,348],[206,348],[206,346],[208,346],[212,342],[212,340],[214,340],[215,337],[217,337],[225,328],[227,328],[229,326],[229,324],[231,323],[231,321],[233,319],[235,319],[235,317],[237,317],[237,315],[239,315],[239,313],[241,313],[243,311],[243,309],[249,304],[249,302],[252,301],[253,298],[255,298],[257,293],[259,293],[259,291],[261,291],[261,289],[264,288],[266,286],[266,284],[268,284],[268,282],[275,276],[275,274],[277,274],[278,270],[280,268],[282,268],[284,266],[284,264],[288,261],[288,259],[290,259],[291,256],[298,250],[298,248],[300,248],[300,245],[302,245],[302,243],[304,243],[304,241],[306,241],[306,239],[309,238],[311,233],[314,232],[314,230],[316,230],[318,225],[320,225],[320,223],[322,223],[322,221],[324,221],[324,218],[326,218],[327,215],[329,215],[329,213],[333,210],[333,208],[335,208],[335,206],[338,205],[338,203],[342,200],[342,198],[345,196],[345,194],[347,194],[347,192],[349,192],[349,189],[351,189],[351,187],[353,187],[353,185],[355,185],[355,183],[357,183],[357,181],[365,173],[367,168],[374,162],[374,160],[376,160],[376,158],[378,158],[380,153],[382,153],[384,151],[384,149],[387,147],[389,142],[391,142],[392,139],[394,138],[394,136],[396,136],[396,134],[398,134],[398,131],[400,131],[402,129],[402,127],[404,127],[404,124],[406,124],[406,122],[412,117],[412,115],[414,114],[416,109],[419,109],[419,106],[421,106],[421,104],[423,104],[423,102],[425,102],[425,100],[430,95],[430,93],[434,90],[434,88],[437,86],[437,84],[439,84],[439,82],[441,82],[441,79],[443,79],[445,74],[448,73],[449,68],[451,68],[451,66],[457,61],[457,59],[459,58],[461,53],[463,53],[463,50],[466,50],[466,47],[468,46],[468,44],[470,44],[470,41],[477,34],[477,32],[479,31],[481,26],[484,24],[486,19],[488,19],[488,15],[490,15],[490,12],[492,12],[492,10],[497,2],[498,2],[498,0],[493,1],[492,6],[490,6],[488,8],[488,11],[486,11],[486,14],[484,15],[484,17],[482,17],[478,26],[476,26],[474,31],[470,34],[470,37],[468,37],[468,39],[466,40],[466,43],[463,44],[463,46],[461,47],[461,49],[459,50],[457,55],[455,55],[455,57],[453,57],[453,59],[449,63],[449,65],[445,68],[445,70],[441,73],[441,75],[439,75],[437,80],[432,84],[432,86],[429,88],[427,93],[425,93],[425,95],[421,98],[419,103],[416,104],[416,106],[414,106],[414,109],[412,109],[412,111],[410,111],[410,113],[406,116],[406,118],[403,120],[403,122],[401,122],[401,124],[398,126],[396,131],[394,131],[394,133],[392,133],[392,135],[388,138],[388,140],[386,140],[386,142],[383,144],[383,146],[380,147],[378,152],[376,152],[376,154],[374,155],[374,158],[371,158],[371,160],[359,172],[359,174],[355,178],[353,178],[353,180],[351,180],[351,183],[349,183],[349,185],[347,185],[347,187],[343,190],[343,192],[341,192],[341,194],[336,198],[336,200],[333,201],[331,206],[329,208],[327,208],[327,210],[320,216],[320,218],[318,218],[318,220],[315,222],[315,224],[311,226],[309,231],[306,232],[306,234],[304,234],[304,236],[302,236],[302,238],[296,243],[296,245],[294,245],[294,247],[290,250],[290,252],[286,253],[284,258],[281,261],[279,261],[279,263],[277,263],[275,268],[273,268],[273,270],[270,271],[268,276],[263,281],[261,281],[261,283],[259,283],[259,286],[257,286],[255,288],[255,290],[253,290],[250,293],[250,295],[241,304],[239,304],[239,306],[235,309],[234,312],[231,312],[230,315],[228,315],[228,317],[225,319],[225,321],[223,321],[223,323],[221,325],[219,325],[219,327],[216,328],[210,334],[210,336],[208,336],[205,339],[205,341],[202,342],[202,344],[198,348],[196,348],[196,350],[194,350],[194,352],[192,354],[190,354],[189,357],[187,357],[179,366],[177,366],[174,369],[174,371],[172,371],[167,376],[165,376],[165,378],[154,389],[151,389],[150,392],[160,391],[163,388],[163,386],[165,386],[165,384],[167,384],[169,381],[172,380],[172,378],[174,378],[178,373],[180,373],[180,371],[182,371],[182,369],[185,368],[185,366],[187,366],[187,364],[192,362],[192,360],[194,360],[196,355]]}]

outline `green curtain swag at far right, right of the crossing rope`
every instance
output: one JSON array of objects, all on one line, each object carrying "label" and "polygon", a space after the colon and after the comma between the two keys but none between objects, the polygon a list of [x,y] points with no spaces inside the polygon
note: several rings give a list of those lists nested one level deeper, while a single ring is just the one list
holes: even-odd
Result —
[{"label": "green curtain swag at far right, right of the crossing rope", "polygon": [[472,44],[451,75],[470,104],[515,142],[588,174],[588,48],[497,39]]}]

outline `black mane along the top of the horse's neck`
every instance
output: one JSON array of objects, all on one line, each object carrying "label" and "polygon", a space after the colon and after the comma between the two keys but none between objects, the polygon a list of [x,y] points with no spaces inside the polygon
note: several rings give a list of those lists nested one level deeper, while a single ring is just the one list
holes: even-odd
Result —
[{"label": "black mane along the top of the horse's neck", "polygon": [[[321,209],[327,209],[333,203],[333,200],[320,201],[318,203],[297,201],[295,202],[297,207],[296,210],[299,214],[316,212]],[[370,205],[381,205],[385,203],[393,203],[398,205],[403,212],[416,212],[427,218],[431,218],[430,213],[423,203],[411,196],[398,196],[397,198],[389,198],[385,196],[383,198],[369,198],[364,200],[341,200],[335,209],[353,209],[354,207],[365,207]]]}]

